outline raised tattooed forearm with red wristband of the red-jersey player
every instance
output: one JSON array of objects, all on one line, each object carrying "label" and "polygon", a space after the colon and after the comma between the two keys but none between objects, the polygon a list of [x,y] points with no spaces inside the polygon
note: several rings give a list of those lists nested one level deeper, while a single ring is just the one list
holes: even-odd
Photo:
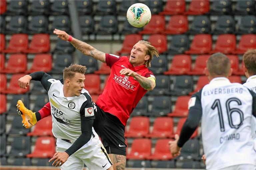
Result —
[{"label": "raised tattooed forearm with red wristband of the red-jersey player", "polygon": [[54,29],[53,33],[56,34],[61,40],[69,41],[76,49],[78,49],[85,55],[90,55],[93,58],[96,58],[97,60],[106,63],[106,56],[104,52],[101,52],[95,49],[93,46],[71,37],[65,31]]}]

